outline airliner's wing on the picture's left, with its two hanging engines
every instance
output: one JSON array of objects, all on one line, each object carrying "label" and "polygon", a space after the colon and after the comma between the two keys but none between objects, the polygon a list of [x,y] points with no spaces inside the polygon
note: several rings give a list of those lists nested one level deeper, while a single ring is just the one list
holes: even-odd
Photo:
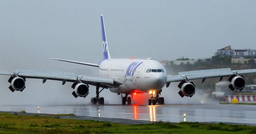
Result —
[{"label": "airliner's wing on the picture's left, with its two hanging engines", "polygon": [[94,77],[59,71],[19,69],[15,71],[0,71],[0,75],[11,75],[8,82],[11,83],[9,89],[12,92],[22,92],[25,89],[25,81],[27,78],[42,79],[43,83],[45,83],[46,80],[62,81],[62,85],[64,85],[66,81],[74,82],[72,85],[72,88],[74,89],[72,94],[74,97],[86,97],[89,93],[88,85],[108,89],[108,87],[116,87],[123,84],[122,81],[116,77]]}]

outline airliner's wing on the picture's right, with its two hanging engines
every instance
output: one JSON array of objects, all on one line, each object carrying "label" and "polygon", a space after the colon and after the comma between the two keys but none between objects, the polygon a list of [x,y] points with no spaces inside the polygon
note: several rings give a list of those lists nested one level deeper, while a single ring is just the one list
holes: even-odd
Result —
[{"label": "airliner's wing on the picture's right, with its two hanging engines", "polygon": [[[230,68],[224,69],[209,69],[209,70],[198,70],[198,71],[186,71],[179,72],[178,75],[168,75],[166,81],[166,87],[169,87],[171,82],[178,82],[180,84],[179,95],[181,97],[188,96],[192,97],[195,93],[195,85],[193,82],[188,82],[194,79],[202,79],[202,83],[206,78],[220,77],[220,81],[223,77],[230,76],[230,85],[228,86],[232,91],[234,89],[242,90],[245,87],[245,79],[242,74],[256,73],[256,69],[247,70],[231,70]],[[241,75],[241,76],[240,76]]]}]

